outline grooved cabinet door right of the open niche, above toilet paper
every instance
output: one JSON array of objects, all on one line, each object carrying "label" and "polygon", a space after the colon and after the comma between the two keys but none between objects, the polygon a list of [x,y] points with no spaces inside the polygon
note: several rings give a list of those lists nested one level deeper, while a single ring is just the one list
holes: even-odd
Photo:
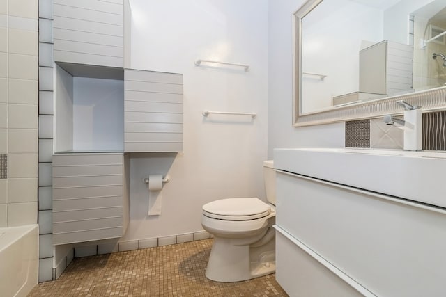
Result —
[{"label": "grooved cabinet door right of the open niche, above toilet paper", "polygon": [[183,151],[183,75],[124,72],[124,152]]}]

